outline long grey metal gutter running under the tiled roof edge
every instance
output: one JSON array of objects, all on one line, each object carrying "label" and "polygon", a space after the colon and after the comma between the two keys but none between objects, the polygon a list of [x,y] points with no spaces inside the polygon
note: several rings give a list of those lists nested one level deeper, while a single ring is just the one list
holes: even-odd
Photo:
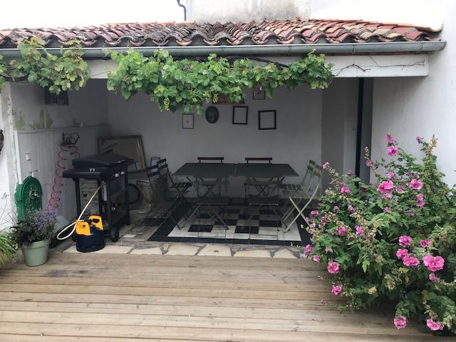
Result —
[{"label": "long grey metal gutter running under the tiled roof edge", "polygon": [[[441,51],[446,41],[403,41],[388,43],[315,43],[315,44],[266,44],[266,45],[224,45],[224,46],[136,46],[132,47],[144,56],[151,56],[155,50],[165,48],[172,56],[292,56],[303,55],[311,51],[315,53],[425,53]],[[65,49],[65,48],[63,48]],[[84,58],[108,58],[107,51],[125,52],[129,47],[88,47],[83,48]],[[46,48],[54,55],[61,53],[61,48]],[[17,48],[0,48],[0,54],[6,58],[20,57]]]}]

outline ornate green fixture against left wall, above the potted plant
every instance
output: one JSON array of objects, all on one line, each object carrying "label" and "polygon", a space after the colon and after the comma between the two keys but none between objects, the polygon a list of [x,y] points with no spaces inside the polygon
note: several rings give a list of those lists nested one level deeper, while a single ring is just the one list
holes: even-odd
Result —
[{"label": "ornate green fixture against left wall, above the potted plant", "polygon": [[28,176],[22,184],[16,187],[14,198],[16,199],[17,219],[19,222],[23,221],[32,212],[41,210],[42,195],[43,189],[35,177]]}]

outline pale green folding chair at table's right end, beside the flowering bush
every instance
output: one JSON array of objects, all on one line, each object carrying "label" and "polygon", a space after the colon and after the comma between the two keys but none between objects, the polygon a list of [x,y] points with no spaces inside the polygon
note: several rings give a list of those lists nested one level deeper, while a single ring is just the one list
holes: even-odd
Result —
[{"label": "pale green folding chair at table's right end, beside the flowering bush", "polygon": [[[289,197],[291,205],[282,217],[283,221],[293,214],[294,210],[298,211],[298,214],[291,220],[286,227],[285,232],[288,232],[291,225],[296,222],[300,216],[304,217],[304,210],[311,205],[312,200],[316,199],[321,192],[321,176],[323,175],[323,167],[317,165],[314,160],[309,160],[309,165],[306,167],[306,174],[303,180],[299,184],[281,184],[281,190],[284,196]],[[304,206],[301,204],[306,202]]]}]

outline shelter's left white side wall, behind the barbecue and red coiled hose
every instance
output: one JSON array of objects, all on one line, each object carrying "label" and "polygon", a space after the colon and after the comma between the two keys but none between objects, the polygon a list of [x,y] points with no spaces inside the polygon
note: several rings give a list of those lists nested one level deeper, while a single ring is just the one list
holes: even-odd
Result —
[{"label": "shelter's left white side wall, behind the barbecue and red coiled hose", "polygon": [[[43,89],[28,83],[11,83],[1,90],[2,123],[6,125],[7,147],[0,155],[0,207],[9,200],[11,211],[15,210],[14,191],[16,185],[34,171],[43,187],[43,207],[51,196],[55,176],[58,144],[62,133],[77,132],[81,155],[96,152],[96,137],[109,135],[107,90],[105,81],[89,81],[79,91],[68,92],[69,105],[44,105]],[[52,125],[41,127],[41,116],[48,116]],[[78,127],[72,127],[79,123]],[[9,126],[8,126],[9,123]],[[49,123],[49,121],[48,121]],[[83,127],[80,127],[83,126]],[[6,151],[10,153],[6,162]],[[26,153],[30,160],[26,160]],[[71,156],[66,155],[71,159]],[[71,166],[71,160],[66,162]],[[9,172],[6,177],[6,171]],[[59,214],[71,219],[76,212],[73,182],[63,181],[63,193]],[[1,199],[8,190],[10,197]]]}]

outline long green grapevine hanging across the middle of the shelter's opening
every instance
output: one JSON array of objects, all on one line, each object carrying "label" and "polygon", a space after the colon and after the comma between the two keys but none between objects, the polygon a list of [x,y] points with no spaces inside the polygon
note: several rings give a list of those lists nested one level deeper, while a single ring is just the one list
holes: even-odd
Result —
[{"label": "long green grapevine hanging across the middle of the shelter's opening", "polygon": [[108,73],[108,90],[120,93],[125,99],[139,91],[150,95],[160,110],[192,108],[202,113],[202,105],[217,102],[220,95],[229,102],[239,102],[244,88],[259,85],[271,98],[280,86],[294,88],[307,83],[312,89],[327,88],[333,78],[331,65],[325,65],[323,55],[309,53],[299,61],[285,66],[266,63],[260,66],[251,59],[227,59],[209,55],[204,60],[177,59],[160,49],[151,57],[130,50],[128,53],[111,53],[118,68]]}]

